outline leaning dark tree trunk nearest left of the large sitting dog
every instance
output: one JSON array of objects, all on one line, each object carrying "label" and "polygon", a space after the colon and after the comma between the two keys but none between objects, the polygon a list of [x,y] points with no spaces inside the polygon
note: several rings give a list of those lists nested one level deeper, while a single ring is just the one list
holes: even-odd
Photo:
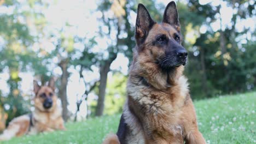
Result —
[{"label": "leaning dark tree trunk nearest left of the large sitting dog", "polygon": [[96,116],[102,116],[104,110],[104,99],[107,86],[108,71],[110,70],[110,64],[112,61],[106,61],[100,68],[100,86],[98,93],[98,103],[96,107]]}]

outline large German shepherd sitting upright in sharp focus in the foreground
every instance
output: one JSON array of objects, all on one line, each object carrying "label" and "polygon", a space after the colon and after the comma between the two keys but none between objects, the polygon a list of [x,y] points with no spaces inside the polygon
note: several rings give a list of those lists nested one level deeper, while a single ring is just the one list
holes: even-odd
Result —
[{"label": "large German shepherd sitting upright in sharp focus in the foreground", "polygon": [[176,4],[167,5],[162,23],[138,4],[135,38],[118,132],[103,143],[206,143],[183,76],[188,53]]}]

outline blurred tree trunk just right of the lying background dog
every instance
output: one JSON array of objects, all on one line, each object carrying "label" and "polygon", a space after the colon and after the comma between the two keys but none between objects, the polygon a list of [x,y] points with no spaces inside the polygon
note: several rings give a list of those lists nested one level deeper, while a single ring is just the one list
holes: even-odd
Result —
[{"label": "blurred tree trunk just right of the lying background dog", "polygon": [[64,121],[66,122],[67,119],[69,118],[68,116],[68,101],[67,101],[67,82],[68,82],[68,59],[64,59],[59,63],[59,66],[61,67],[62,70],[62,75],[61,75],[61,86],[60,86],[60,91],[59,91],[59,97],[61,99],[61,104],[62,104],[62,117]]}]

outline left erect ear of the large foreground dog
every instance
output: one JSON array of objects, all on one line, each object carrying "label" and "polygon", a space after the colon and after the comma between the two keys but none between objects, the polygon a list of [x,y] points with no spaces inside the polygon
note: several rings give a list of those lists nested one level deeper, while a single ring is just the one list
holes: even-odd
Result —
[{"label": "left erect ear of the large foreground dog", "polygon": [[146,7],[141,3],[138,4],[135,29],[135,38],[138,45],[145,40],[149,30],[153,27],[154,24],[155,21],[150,17]]}]

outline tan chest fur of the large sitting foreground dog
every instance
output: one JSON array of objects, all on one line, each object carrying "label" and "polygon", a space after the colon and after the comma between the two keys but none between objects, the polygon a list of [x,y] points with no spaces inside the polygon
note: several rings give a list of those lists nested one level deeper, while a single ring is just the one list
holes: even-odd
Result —
[{"label": "tan chest fur of the large sitting foreground dog", "polygon": [[[147,133],[141,135],[148,135],[150,139],[154,139],[158,135],[161,137],[173,135],[176,140],[183,141],[182,110],[187,97],[189,97],[187,79],[184,76],[179,77],[176,85],[166,91],[149,87],[132,76],[127,86],[130,110],[132,109],[131,111],[134,111],[136,117],[139,118],[138,121],[141,121],[140,123],[144,127],[142,131]],[[136,110],[136,107],[139,110]],[[125,115],[129,115],[129,113],[125,113]],[[127,123],[137,125],[135,122]]]}]

